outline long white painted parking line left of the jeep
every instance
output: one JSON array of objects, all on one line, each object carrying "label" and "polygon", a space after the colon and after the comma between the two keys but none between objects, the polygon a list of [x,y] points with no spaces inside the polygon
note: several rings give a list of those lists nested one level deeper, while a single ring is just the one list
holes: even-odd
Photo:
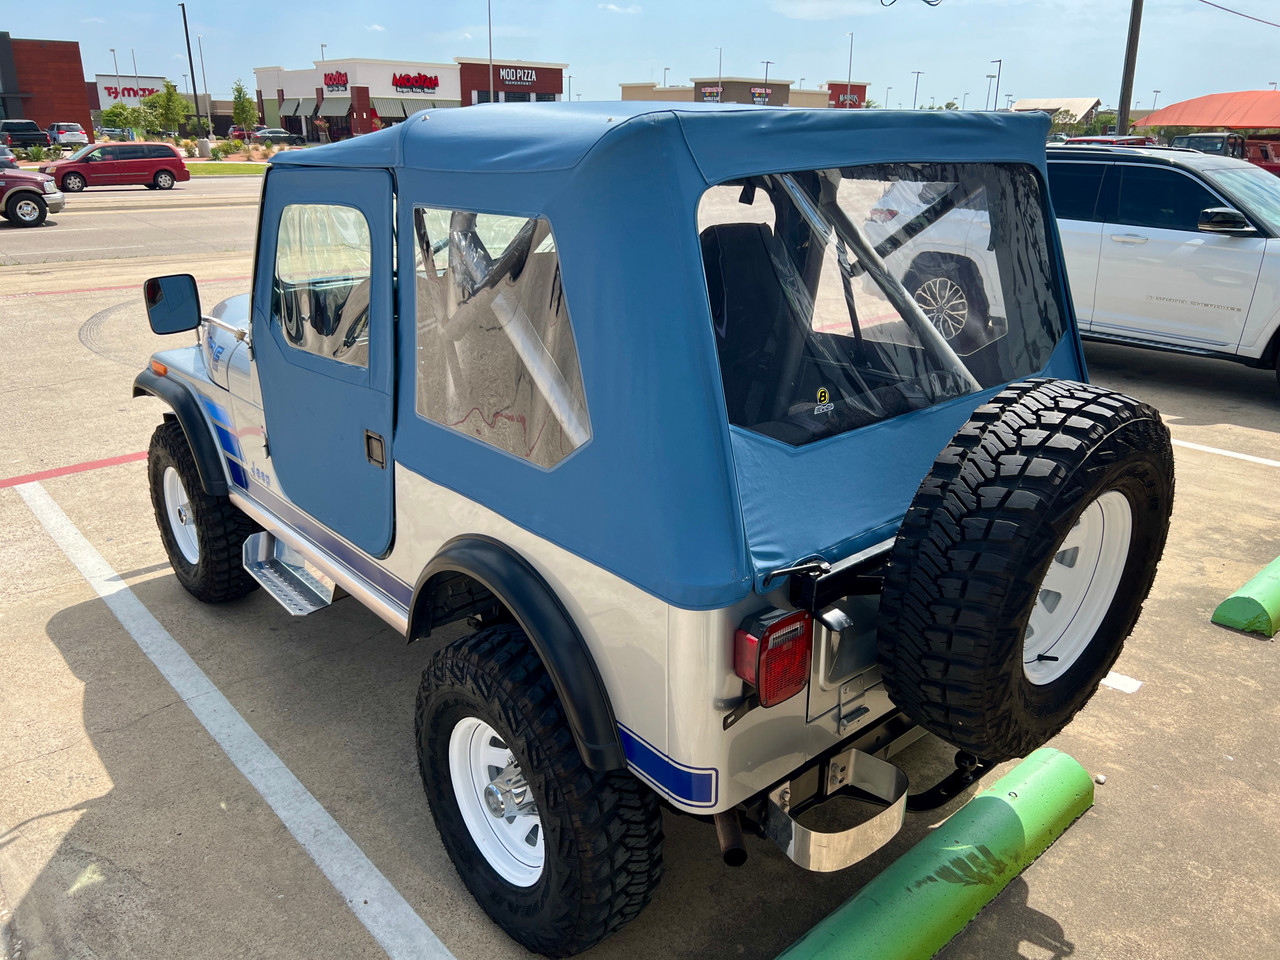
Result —
[{"label": "long white painted parking line left of the jeep", "polygon": [[387,955],[392,960],[453,960],[399,891],[160,626],[45,488],[28,483],[14,489]]}]

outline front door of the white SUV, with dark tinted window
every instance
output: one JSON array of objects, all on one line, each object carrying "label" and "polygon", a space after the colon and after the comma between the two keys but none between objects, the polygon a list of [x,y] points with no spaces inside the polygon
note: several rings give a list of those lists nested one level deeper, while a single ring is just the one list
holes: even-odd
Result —
[{"label": "front door of the white SUV, with dark tinted window", "polygon": [[1115,164],[1107,177],[1119,177],[1119,193],[1102,225],[1089,329],[1234,352],[1266,239],[1202,233],[1201,210],[1233,205],[1181,170]]}]

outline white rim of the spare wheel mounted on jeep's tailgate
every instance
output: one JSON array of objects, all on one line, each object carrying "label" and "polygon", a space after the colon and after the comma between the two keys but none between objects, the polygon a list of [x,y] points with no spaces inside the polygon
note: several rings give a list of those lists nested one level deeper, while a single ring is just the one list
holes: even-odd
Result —
[{"label": "white rim of the spare wheel mounted on jeep's tailgate", "polygon": [[1108,490],[1062,539],[1023,635],[1023,672],[1032,684],[1052,684],[1089,645],[1111,608],[1132,538],[1129,498]]}]

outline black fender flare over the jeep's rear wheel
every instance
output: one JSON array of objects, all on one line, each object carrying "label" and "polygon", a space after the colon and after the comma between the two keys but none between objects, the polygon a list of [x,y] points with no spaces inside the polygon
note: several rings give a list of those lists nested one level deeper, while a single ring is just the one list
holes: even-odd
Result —
[{"label": "black fender flare over the jeep's rear wheel", "polygon": [[[433,581],[462,573],[481,584],[525,631],[559,696],[582,762],[594,771],[626,767],[613,708],[582,634],[534,566],[506,544],[457,536],[426,564],[410,603],[410,641],[430,636]],[[431,644],[429,655],[447,641]]]}]

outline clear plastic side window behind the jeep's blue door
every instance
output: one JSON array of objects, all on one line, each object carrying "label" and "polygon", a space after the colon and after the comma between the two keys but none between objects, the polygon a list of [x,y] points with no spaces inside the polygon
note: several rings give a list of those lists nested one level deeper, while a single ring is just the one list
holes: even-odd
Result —
[{"label": "clear plastic side window behind the jeep's blue door", "polygon": [[591,438],[543,219],[416,207],[420,416],[553,467]]}]

